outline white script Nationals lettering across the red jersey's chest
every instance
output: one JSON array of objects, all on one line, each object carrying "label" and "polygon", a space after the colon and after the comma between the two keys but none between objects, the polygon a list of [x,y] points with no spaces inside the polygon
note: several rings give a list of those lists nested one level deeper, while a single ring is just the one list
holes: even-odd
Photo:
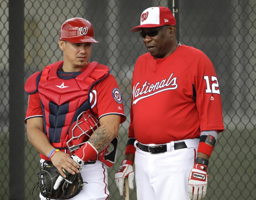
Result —
[{"label": "white script Nationals lettering across the red jersey's chest", "polygon": [[133,105],[135,105],[141,99],[153,96],[166,90],[175,90],[178,85],[176,83],[177,77],[173,78],[172,73],[168,79],[163,79],[156,83],[145,83],[139,87],[140,82],[133,86]]}]

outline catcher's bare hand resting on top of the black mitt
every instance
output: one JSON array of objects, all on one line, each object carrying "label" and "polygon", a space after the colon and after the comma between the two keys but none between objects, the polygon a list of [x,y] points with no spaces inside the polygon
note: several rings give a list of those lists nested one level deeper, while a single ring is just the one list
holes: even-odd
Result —
[{"label": "catcher's bare hand resting on top of the black mitt", "polygon": [[51,157],[51,162],[58,169],[59,173],[66,178],[65,173],[62,169],[65,169],[70,174],[79,173],[78,168],[80,167],[77,162],[75,162],[72,158],[70,159],[70,155],[66,154],[62,151],[56,152],[53,157]]}]

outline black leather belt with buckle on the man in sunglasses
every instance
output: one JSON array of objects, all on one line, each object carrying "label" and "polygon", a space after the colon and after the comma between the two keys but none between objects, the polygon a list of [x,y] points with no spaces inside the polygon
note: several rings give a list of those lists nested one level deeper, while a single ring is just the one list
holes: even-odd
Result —
[{"label": "black leather belt with buckle on the man in sunglasses", "polygon": [[[136,146],[142,150],[142,151],[146,151],[149,152],[151,154],[158,154],[158,153],[164,153],[167,151],[167,145],[157,145],[157,146],[146,146],[146,145],[142,145],[141,143],[137,143]],[[177,142],[174,143],[174,150],[177,149],[185,149],[187,148],[187,145],[185,142]]]}]

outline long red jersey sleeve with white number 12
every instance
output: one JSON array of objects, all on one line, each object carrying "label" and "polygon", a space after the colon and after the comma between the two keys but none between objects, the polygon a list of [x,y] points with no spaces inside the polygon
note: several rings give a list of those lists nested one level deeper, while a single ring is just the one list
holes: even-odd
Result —
[{"label": "long red jersey sleeve with white number 12", "polygon": [[205,55],[198,60],[195,81],[196,105],[200,118],[200,130],[224,130],[219,82],[210,59]]}]

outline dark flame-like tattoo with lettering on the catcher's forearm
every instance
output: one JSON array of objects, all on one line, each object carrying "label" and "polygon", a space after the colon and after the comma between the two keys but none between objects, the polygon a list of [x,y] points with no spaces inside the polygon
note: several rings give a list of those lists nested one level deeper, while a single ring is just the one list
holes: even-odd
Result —
[{"label": "dark flame-like tattoo with lettering on the catcher's forearm", "polygon": [[97,130],[89,138],[88,142],[90,142],[98,152],[102,151],[109,145],[111,140],[113,139],[111,132],[107,132],[106,126],[100,126]]}]

